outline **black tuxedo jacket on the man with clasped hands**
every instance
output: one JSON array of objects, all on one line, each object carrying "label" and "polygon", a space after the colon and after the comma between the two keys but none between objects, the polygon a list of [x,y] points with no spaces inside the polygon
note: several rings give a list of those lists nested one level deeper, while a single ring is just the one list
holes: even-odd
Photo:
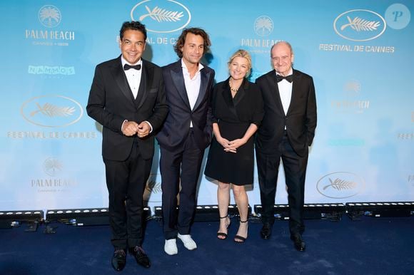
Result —
[{"label": "black tuxedo jacket on the man with clasped hands", "polygon": [[[138,142],[143,159],[150,159],[154,151],[154,133],[161,128],[168,113],[161,68],[142,60],[141,83],[135,100],[123,72],[121,56],[99,64],[95,69],[86,111],[104,126],[102,155],[105,159],[126,160],[134,140]],[[146,120],[151,123],[153,132],[143,139],[127,137],[121,131],[124,120],[136,123]]]}]

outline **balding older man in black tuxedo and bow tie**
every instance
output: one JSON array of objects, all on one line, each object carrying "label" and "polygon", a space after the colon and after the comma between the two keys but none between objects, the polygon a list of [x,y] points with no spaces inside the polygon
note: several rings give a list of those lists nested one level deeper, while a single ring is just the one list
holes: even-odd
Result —
[{"label": "balding older man in black tuxedo and bow tie", "polygon": [[271,61],[275,69],[256,80],[265,110],[256,137],[263,207],[261,237],[271,237],[278,168],[282,160],[288,187],[291,239],[298,251],[304,251],[303,203],[308,147],[316,128],[315,87],[311,76],[292,68],[293,50],[288,42],[273,45]]}]

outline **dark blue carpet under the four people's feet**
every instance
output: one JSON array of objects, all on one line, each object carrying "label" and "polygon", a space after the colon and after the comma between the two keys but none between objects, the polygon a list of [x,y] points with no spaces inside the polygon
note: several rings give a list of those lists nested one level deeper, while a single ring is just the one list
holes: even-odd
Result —
[{"label": "dark blue carpet under the four people's feet", "polygon": [[[37,232],[24,232],[24,224],[1,229],[0,274],[117,274],[108,226],[51,225],[56,234],[44,234],[44,225]],[[161,226],[151,220],[143,244],[151,268],[128,255],[118,274],[414,274],[414,217],[306,220],[305,252],[293,248],[286,221],[275,222],[270,240],[260,238],[261,224],[250,222],[245,244],[233,242],[237,227],[233,218],[222,241],[218,222],[196,222],[198,249],[188,251],[177,240],[178,255],[168,256]]]}]

